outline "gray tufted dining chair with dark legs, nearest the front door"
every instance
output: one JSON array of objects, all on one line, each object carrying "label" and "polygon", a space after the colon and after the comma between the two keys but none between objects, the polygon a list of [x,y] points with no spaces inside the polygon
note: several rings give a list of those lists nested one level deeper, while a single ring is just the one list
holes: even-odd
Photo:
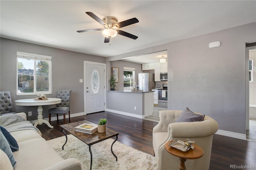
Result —
[{"label": "gray tufted dining chair with dark legs, nearest the front door", "polygon": [[57,98],[61,99],[61,103],[58,103],[56,107],[49,109],[49,123],[51,123],[51,114],[57,115],[57,122],[59,122],[58,115],[63,114],[64,124],[66,123],[66,113],[68,113],[70,122],[70,95],[71,90],[58,90]]}]

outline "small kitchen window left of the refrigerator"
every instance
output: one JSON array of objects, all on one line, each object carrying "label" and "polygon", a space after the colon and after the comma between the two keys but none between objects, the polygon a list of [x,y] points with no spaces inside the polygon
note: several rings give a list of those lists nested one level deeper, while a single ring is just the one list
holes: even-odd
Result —
[{"label": "small kitchen window left of the refrigerator", "polygon": [[124,90],[132,90],[135,84],[135,68],[124,67]]}]

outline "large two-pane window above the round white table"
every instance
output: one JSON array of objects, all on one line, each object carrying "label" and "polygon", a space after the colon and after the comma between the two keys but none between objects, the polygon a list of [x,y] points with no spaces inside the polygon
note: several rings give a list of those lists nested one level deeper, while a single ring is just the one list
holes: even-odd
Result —
[{"label": "large two-pane window above the round white table", "polygon": [[17,51],[17,95],[52,94],[52,57]]}]

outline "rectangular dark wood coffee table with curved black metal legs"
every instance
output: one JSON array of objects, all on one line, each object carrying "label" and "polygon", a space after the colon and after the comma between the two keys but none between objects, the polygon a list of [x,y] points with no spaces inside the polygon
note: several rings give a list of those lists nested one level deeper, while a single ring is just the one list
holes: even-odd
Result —
[{"label": "rectangular dark wood coffee table with curved black metal legs", "polygon": [[[110,130],[108,128],[106,128],[106,132],[104,132],[104,133],[94,132],[93,134],[88,134],[88,133],[83,133],[83,132],[77,132],[74,129],[74,127],[76,127],[78,125],[82,125],[83,123],[94,124],[94,123],[91,123],[89,121],[84,120],[84,121],[79,121],[79,122],[60,125],[62,132],[66,136],[66,142],[62,146],[62,150],[64,150],[64,146],[68,141],[68,136],[67,136],[66,132],[64,131],[64,130],[66,130],[66,131],[70,132],[72,135],[76,136],[76,138],[82,140],[84,143],[86,143],[89,146],[89,152],[90,152],[90,155],[91,155],[90,170],[92,170],[92,150],[91,150],[91,146],[93,144],[96,144],[96,143],[101,142],[103,140],[106,140],[108,138],[112,138],[114,136],[116,136],[116,140],[117,140],[118,133],[113,131],[113,130]],[[114,152],[112,150],[112,146],[116,142],[116,140],[114,140],[114,142],[111,145],[111,152],[112,152],[112,154],[114,155],[114,157],[116,158],[116,161],[117,161],[117,156],[114,154]]]}]

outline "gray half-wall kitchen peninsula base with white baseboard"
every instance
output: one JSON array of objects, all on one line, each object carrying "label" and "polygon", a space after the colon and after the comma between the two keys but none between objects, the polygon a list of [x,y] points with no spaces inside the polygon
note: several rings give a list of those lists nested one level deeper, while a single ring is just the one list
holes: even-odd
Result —
[{"label": "gray half-wall kitchen peninsula base with white baseboard", "polygon": [[153,115],[154,91],[107,91],[106,111],[143,119]]}]

